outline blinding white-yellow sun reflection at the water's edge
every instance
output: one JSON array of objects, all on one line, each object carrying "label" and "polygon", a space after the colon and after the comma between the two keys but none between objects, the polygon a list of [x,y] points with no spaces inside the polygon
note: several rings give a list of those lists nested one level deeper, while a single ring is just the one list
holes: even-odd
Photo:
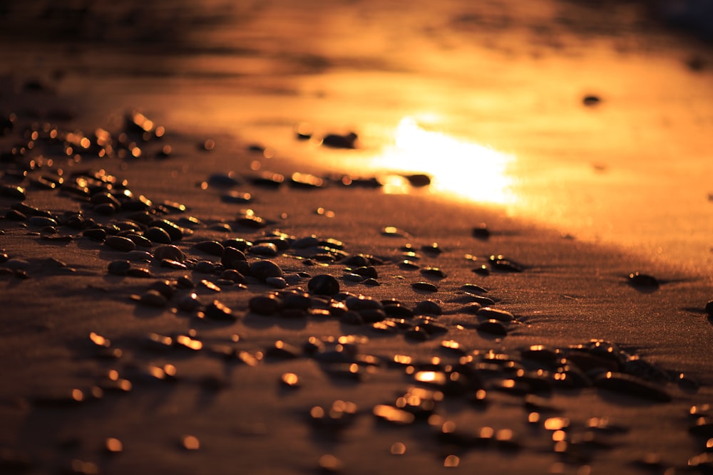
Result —
[{"label": "blinding white-yellow sun reflection at the water's edge", "polygon": [[[436,192],[456,194],[476,202],[512,204],[514,177],[508,165],[515,160],[476,142],[468,142],[443,132],[426,130],[414,118],[406,117],[394,131],[394,143],[374,159],[374,168],[391,172],[425,173]],[[408,182],[390,179],[386,192],[404,192]]]}]

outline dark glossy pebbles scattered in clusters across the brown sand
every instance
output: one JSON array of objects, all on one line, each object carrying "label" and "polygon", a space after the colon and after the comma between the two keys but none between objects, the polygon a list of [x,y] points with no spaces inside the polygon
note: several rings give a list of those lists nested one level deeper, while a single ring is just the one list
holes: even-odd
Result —
[{"label": "dark glossy pebbles scattered in clusters across the brown sand", "polygon": [[[687,375],[663,370],[607,341],[591,340],[563,348],[533,344],[514,353],[503,353],[496,347],[468,348],[449,338],[451,330],[473,330],[499,342],[520,325],[520,318],[499,308],[498,299],[474,283],[462,284],[459,289],[462,305],[455,309],[443,308],[441,303],[428,298],[439,292],[438,281],[446,278],[446,271],[421,266],[418,253],[437,258],[442,251],[437,243],[421,247],[407,244],[400,249],[402,259],[392,260],[351,252],[339,239],[308,233],[284,234],[271,229],[269,220],[250,210],[230,223],[205,223],[188,216],[185,204],[154,202],[132,192],[126,180],[103,169],[81,169],[79,165],[90,158],[120,160],[130,165],[131,160],[142,157],[155,160],[169,157],[172,150],[165,144],[165,129],[140,113],[127,115],[125,127],[118,134],[98,129],[88,136],[46,123],[21,126],[15,115],[0,119],[0,132],[21,137],[9,150],[0,150],[0,196],[6,207],[4,222],[0,221],[3,228],[12,229],[12,223],[17,223],[30,237],[61,242],[82,240],[91,243],[93,249],[106,250],[101,256],[109,256],[107,275],[145,279],[145,284],[138,284],[139,291],[132,284],[132,291],[127,292],[127,298],[135,305],[183,313],[209,325],[211,322],[230,325],[247,318],[279,318],[336,320],[342,324],[341,328],[353,329],[346,335],[314,335],[303,341],[294,341],[288,334],[284,340],[276,340],[265,348],[247,348],[235,334],[224,340],[202,338],[196,330],[149,333],[138,339],[91,333],[80,350],[81,355],[106,360],[112,369],[91,387],[49,390],[32,397],[31,403],[36,407],[81,406],[103,399],[107,392],[130,394],[138,388],[150,391],[156,384],[167,382],[195,383],[182,379],[173,363],[154,365],[127,360],[122,343],[141,348],[148,355],[158,352],[168,359],[171,355],[209,355],[225,365],[259,367],[274,361],[313,360],[325,375],[335,380],[368,384],[371,374],[384,371],[400,375],[404,382],[399,395],[385,397],[374,407],[335,400],[328,407],[305,408],[304,421],[316,432],[340,432],[361,417],[373,417],[379,424],[403,427],[406,431],[415,428],[418,434],[426,427],[438,447],[434,454],[443,456],[444,466],[458,466],[459,456],[469,450],[506,453],[535,450],[531,434],[522,437],[511,427],[456,427],[456,422],[441,412],[442,405],[453,400],[484,411],[493,394],[508,395],[521,404],[526,424],[537,429],[535,439],[548,441],[550,453],[558,454],[565,463],[585,465],[611,449],[616,434],[628,428],[612,424],[606,417],[589,419],[585,424],[571,422],[549,403],[553,393],[596,388],[666,403],[676,391],[697,390],[697,382]],[[212,148],[208,142],[202,147]],[[63,164],[67,162],[73,162],[72,167],[65,169]],[[413,179],[425,183],[422,177]],[[255,187],[267,188],[280,187],[285,182],[300,188],[319,188],[330,182],[358,183],[352,178],[329,179],[311,174],[292,174],[285,179],[281,174],[267,172],[248,181]],[[223,202],[249,203],[250,193],[232,189],[238,183],[238,177],[229,173],[212,174],[201,185],[223,189],[220,197]],[[377,180],[365,179],[361,183],[374,184]],[[71,197],[81,203],[82,209],[51,212],[32,207],[26,200],[34,189]],[[235,236],[220,241],[194,239],[194,235],[205,229],[230,231]],[[237,237],[240,233],[243,237]],[[382,234],[406,236],[392,226],[385,226]],[[483,224],[472,230],[476,239],[488,239],[489,234]],[[251,237],[246,238],[248,235]],[[527,266],[502,255],[484,260],[467,255],[466,259],[478,264],[472,270],[481,276],[527,271]],[[277,262],[294,264],[287,268]],[[0,278],[32,278],[35,269],[45,273],[55,269],[68,276],[77,273],[58,259],[34,261],[4,251],[0,254]],[[408,303],[345,290],[354,288],[354,284],[360,284],[358,288],[363,292],[381,286],[386,269],[417,271],[419,280],[411,279],[403,285],[410,285],[423,299]],[[630,283],[657,288],[658,282],[652,279],[632,273]],[[230,308],[221,300],[222,295],[236,293],[245,295],[244,305]],[[443,318],[444,315],[448,318]],[[427,342],[429,348],[436,343],[436,350],[429,356],[424,355],[420,346],[409,347],[414,348],[411,354],[376,355],[363,351],[370,339],[384,336],[404,338],[416,345]],[[229,383],[205,377],[198,384],[215,391]],[[303,387],[299,371],[284,372],[279,385],[282,390]],[[682,461],[681,466],[709,473],[713,467],[713,411],[709,406],[692,407],[691,417],[689,430],[701,444],[699,455]],[[179,446],[187,451],[199,450],[200,440],[195,435],[183,436]],[[406,449],[399,442],[391,447],[391,454],[403,454]],[[121,452],[123,444],[116,438],[107,439],[106,451]],[[665,468],[655,456],[632,463],[651,469]],[[343,468],[341,461],[330,454],[323,456],[318,466],[328,472]],[[0,469],[31,471],[32,454],[11,449],[0,451]],[[92,474],[98,472],[98,466],[91,461],[75,460],[63,470],[63,473]]]}]

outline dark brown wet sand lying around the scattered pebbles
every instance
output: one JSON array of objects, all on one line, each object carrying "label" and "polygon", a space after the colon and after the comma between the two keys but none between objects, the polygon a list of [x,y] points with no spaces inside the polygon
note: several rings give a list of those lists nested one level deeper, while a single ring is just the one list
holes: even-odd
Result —
[{"label": "dark brown wet sand lying around the scattered pebbles", "polygon": [[[347,16],[344,19],[350,21]],[[100,69],[92,71],[96,74]],[[328,73],[318,77],[332,78]],[[175,86],[180,80],[165,83]],[[267,133],[276,130],[275,123],[261,122],[258,104],[265,107],[262,99],[266,97],[272,104],[284,100],[275,90],[258,96],[254,103],[242,103],[238,115],[242,133],[236,134],[235,128],[220,127],[220,119],[208,123],[210,114],[205,109],[204,115],[193,116],[195,122],[188,114],[197,109],[194,105],[172,109],[171,101],[181,96],[175,90],[162,93],[164,81],[156,78],[118,75],[112,83],[72,73],[57,92],[44,86],[22,90],[31,83],[16,77],[6,81],[9,88],[5,91],[19,92],[2,95],[4,107],[16,111],[17,119],[13,130],[1,137],[0,150],[6,154],[1,179],[6,187],[25,187],[26,197],[9,196],[9,191],[0,197],[5,216],[0,221],[0,248],[7,255],[0,263],[4,308],[0,357],[2,378],[7,382],[0,389],[1,469],[103,474],[236,470],[430,474],[457,464],[461,471],[512,474],[709,470],[705,457],[693,459],[707,464],[704,468],[689,466],[713,436],[707,426],[692,430],[699,414],[690,414],[697,405],[707,415],[710,409],[702,404],[712,399],[711,325],[704,310],[712,298],[711,277],[705,271],[709,256],[696,254],[704,266],[694,268],[645,251],[632,252],[630,247],[563,236],[561,229],[534,224],[532,216],[508,216],[501,207],[454,202],[428,188],[387,194],[384,187],[342,186],[334,176],[338,167],[305,160],[314,152],[315,157],[327,153],[339,161],[352,151],[303,147],[306,157],[300,155],[296,150],[304,143],[294,137],[292,114],[277,124],[279,134]],[[255,76],[245,83],[258,88]],[[111,84],[115,95],[100,93]],[[205,92],[194,98],[221,97],[220,91],[207,93],[210,81],[185,84],[197,88],[194,92]],[[87,101],[74,102],[81,97],[77,94],[81,88],[86,88]],[[144,142],[128,130],[130,140],[125,143],[135,140],[141,154],[132,157],[131,147],[126,147],[125,156],[120,157],[118,141],[121,132],[127,132],[125,113],[143,100],[149,105],[149,110],[143,109],[145,114],[155,125],[165,126],[165,134]],[[328,94],[329,100],[349,103]],[[299,103],[299,99],[293,97],[287,103]],[[305,104],[323,102],[312,98]],[[51,117],[51,111],[67,110],[76,113],[72,118]],[[332,127],[344,127],[338,131],[368,129],[368,120],[362,120],[366,116],[359,115],[358,107],[354,122],[347,120],[347,114],[339,115],[339,127],[320,119],[314,110],[298,110],[302,120],[317,125],[319,133]],[[329,108],[324,111],[322,117],[328,116]],[[394,114],[394,119],[402,113]],[[81,141],[73,145],[75,150],[68,157],[65,141],[38,139],[24,156],[8,155],[19,142],[29,141],[24,137],[25,127],[33,128],[35,123],[41,129],[44,122],[56,125],[60,132],[81,132],[92,143],[96,127],[103,127],[111,132],[114,152],[103,158],[81,152],[80,159],[74,160]],[[205,150],[206,140],[215,141],[210,151]],[[276,155],[266,157],[256,150],[256,143],[274,147]],[[170,145],[170,154],[158,156],[165,145]],[[34,168],[30,167],[33,159]],[[28,169],[27,176],[17,177],[16,170],[23,168]],[[58,169],[66,180],[60,187],[43,189],[33,184],[37,177],[53,176]],[[146,209],[150,215],[180,223],[185,232],[173,244],[188,256],[192,269],[168,268],[150,256],[148,262],[132,262],[133,268],[148,270],[150,277],[119,276],[109,272],[108,266],[127,259],[128,254],[111,249],[101,239],[89,239],[83,235],[86,229],[64,224],[52,234],[45,229],[46,223],[10,218],[13,206],[24,202],[53,216],[81,211],[105,225],[126,221],[131,211],[101,214],[97,199],[91,203],[67,191],[68,184],[76,181],[73,174],[87,177],[101,169],[105,174],[100,177],[113,176],[119,183],[125,179],[125,187],[134,196],[150,199],[152,204]],[[284,182],[266,186],[251,180],[266,170],[282,174]],[[237,179],[232,186],[210,179],[231,171]],[[351,176],[368,179],[377,174],[373,169],[357,171],[352,170]],[[324,180],[324,186],[294,186],[289,183],[294,172],[313,173]],[[248,192],[251,200],[226,202],[223,196],[230,191]],[[185,212],[175,209],[175,203],[185,205]],[[247,209],[260,216],[265,226],[258,229],[252,227],[255,221],[239,221]],[[188,216],[198,221],[186,220]],[[473,229],[481,223],[490,231],[487,239],[473,236]],[[388,226],[398,233],[384,233]],[[257,308],[250,310],[250,303],[255,305],[256,297],[277,291],[278,282],[261,281],[244,265],[238,267],[245,274],[245,286],[221,280],[220,268],[212,272],[195,268],[208,267],[198,261],[221,260],[195,244],[232,238],[256,241],[275,231],[284,233],[289,244],[270,256],[286,274],[287,290],[307,291],[314,276],[329,274],[337,278],[342,292],[397,299],[408,310],[391,308],[389,312],[404,321],[392,317],[393,325],[385,325],[384,315],[368,311],[362,311],[360,320],[353,313],[343,315],[346,309],[334,305],[324,313],[317,308],[329,298],[317,298],[314,291],[310,310],[283,308],[263,315]],[[142,233],[145,230],[138,234]],[[295,246],[299,239],[312,235],[340,241],[342,249]],[[433,243],[438,243],[441,252],[424,249]],[[337,246],[335,241],[325,244]],[[414,256],[404,254],[406,244],[414,247]],[[155,254],[158,246],[153,243],[145,250]],[[245,254],[249,263],[265,258],[250,249]],[[378,286],[349,280],[353,276],[344,278],[347,268],[355,266],[342,258],[359,254],[371,256],[374,270],[369,272],[376,272]],[[503,266],[498,270],[488,259],[498,254],[518,263],[520,271],[503,270]],[[406,259],[416,267],[404,266]],[[481,266],[488,269],[487,276],[473,272]],[[421,272],[429,267],[440,268],[446,276]],[[632,285],[627,276],[635,272],[655,276],[660,285]],[[178,279],[184,275],[196,286],[193,291],[202,303],[200,308],[178,308],[181,298],[192,291],[180,286]],[[220,292],[210,290],[203,280],[217,283]],[[136,296],[156,281],[168,281],[173,288],[168,302],[154,307],[137,301]],[[431,283],[437,291],[416,290],[412,287],[416,282]],[[478,300],[463,290],[466,283],[486,288],[482,296],[492,298],[492,307],[510,312],[514,320],[482,325],[484,318],[473,315],[472,307],[465,308]],[[333,298],[345,301],[346,296]],[[234,319],[206,317],[214,299],[232,309]],[[423,315],[409,315],[426,299],[443,310],[441,315],[431,312],[430,323]],[[351,310],[358,305],[352,302]],[[364,322],[365,318],[381,322]],[[424,325],[431,333],[415,329]],[[503,330],[505,334],[498,335]],[[101,339],[92,340],[92,333],[111,344],[97,345]],[[200,350],[179,343],[147,343],[152,333],[168,336],[172,342],[200,342]],[[182,335],[191,339],[179,338]],[[305,344],[310,337],[322,340],[324,350],[309,351],[312,347]],[[611,342],[621,353],[617,347],[597,353],[592,339]],[[296,349],[275,350],[278,340]],[[444,347],[442,342],[451,340],[458,343],[458,349],[452,344]],[[528,353],[531,345],[560,349],[570,361]],[[573,345],[585,348],[578,351],[570,348]],[[121,351],[120,357],[115,350]],[[394,362],[396,355],[411,357],[411,363]],[[632,362],[635,357],[650,365]],[[524,372],[518,374],[519,369]],[[419,371],[424,373],[417,378]],[[555,377],[558,371],[569,379],[563,382]],[[635,380],[628,387],[620,382],[607,389],[602,380],[607,371],[636,375],[647,382]],[[299,387],[280,383],[288,372],[299,377]],[[439,377],[446,377],[448,384],[439,383]],[[130,382],[130,390],[123,380]],[[571,380],[575,382],[570,387]],[[73,390],[81,390],[81,402],[75,400],[78,393],[73,395]],[[403,405],[399,397],[409,392],[411,400],[415,393],[426,402],[410,407],[411,412],[404,415],[395,407]],[[657,395],[666,397],[663,393],[669,402],[656,400]],[[342,410],[337,410],[335,401],[353,402],[356,409],[342,404]],[[381,404],[394,406],[389,414],[405,417],[404,423],[376,417],[375,412],[386,410]],[[315,417],[319,413],[315,407],[322,407],[327,415]],[[418,418],[411,421],[408,414]],[[491,436],[487,428],[492,429]],[[198,450],[186,448],[187,435],[198,439]],[[108,438],[120,440],[123,451],[108,452]],[[336,457],[339,463],[331,465],[334,459],[324,459],[325,455]]]}]

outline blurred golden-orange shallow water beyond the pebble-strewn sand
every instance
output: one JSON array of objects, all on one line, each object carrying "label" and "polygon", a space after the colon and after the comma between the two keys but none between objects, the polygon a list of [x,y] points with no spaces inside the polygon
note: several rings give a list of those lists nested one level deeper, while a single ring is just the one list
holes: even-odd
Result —
[{"label": "blurred golden-orange shallow water beyond the pebble-strewn sand", "polygon": [[[307,168],[425,172],[427,191],[393,178],[386,191],[710,273],[709,51],[635,3],[471,3],[30,1],[4,16],[2,73],[51,85],[83,117],[138,107]],[[317,138],[354,130],[358,147],[298,141],[301,122]]]}]

